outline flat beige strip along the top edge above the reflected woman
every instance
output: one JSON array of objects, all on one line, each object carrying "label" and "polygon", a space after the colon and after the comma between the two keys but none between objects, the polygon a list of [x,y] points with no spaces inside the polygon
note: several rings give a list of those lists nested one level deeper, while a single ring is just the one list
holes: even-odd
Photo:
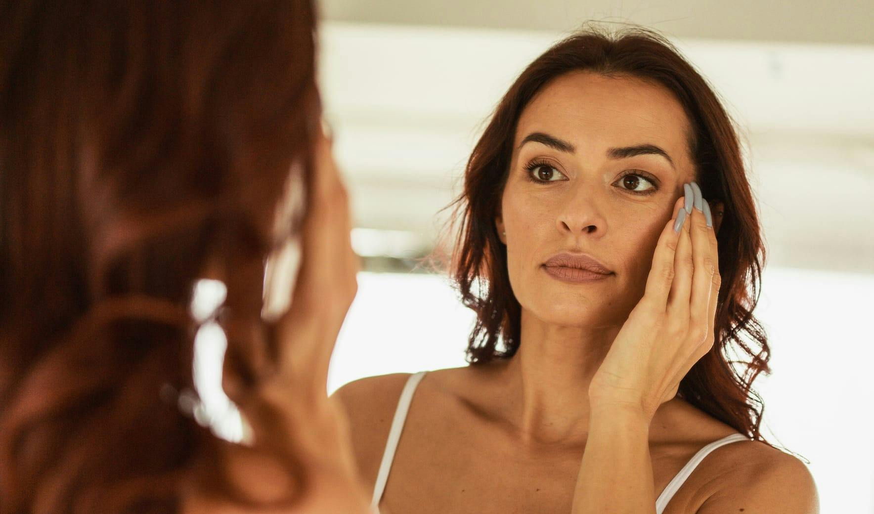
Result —
[{"label": "flat beige strip along the top edge above the reflected woman", "polygon": [[323,0],[332,21],[570,31],[586,20],[653,27],[678,38],[874,45],[874,2],[822,0]]}]

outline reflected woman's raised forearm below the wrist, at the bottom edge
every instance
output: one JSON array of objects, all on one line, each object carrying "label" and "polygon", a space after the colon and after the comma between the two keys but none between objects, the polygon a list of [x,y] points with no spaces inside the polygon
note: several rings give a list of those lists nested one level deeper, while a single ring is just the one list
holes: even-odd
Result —
[{"label": "reflected woman's raised forearm below the wrist, at the bottom edge", "polygon": [[655,514],[654,489],[649,419],[631,408],[593,410],[572,514]]}]

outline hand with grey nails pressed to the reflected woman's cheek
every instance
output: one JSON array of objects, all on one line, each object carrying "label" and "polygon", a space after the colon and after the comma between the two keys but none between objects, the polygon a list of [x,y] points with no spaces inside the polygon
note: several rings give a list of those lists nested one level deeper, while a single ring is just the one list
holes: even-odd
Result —
[{"label": "hand with grey nails pressed to the reflected woman's cheek", "polygon": [[[686,195],[676,201],[655,247],[646,292],[589,386],[593,410],[630,408],[652,420],[713,346],[720,285],[716,234],[698,210],[704,200],[697,184],[683,189]],[[694,207],[686,216],[683,205],[690,202]],[[681,220],[676,233],[678,215],[690,219]]]}]

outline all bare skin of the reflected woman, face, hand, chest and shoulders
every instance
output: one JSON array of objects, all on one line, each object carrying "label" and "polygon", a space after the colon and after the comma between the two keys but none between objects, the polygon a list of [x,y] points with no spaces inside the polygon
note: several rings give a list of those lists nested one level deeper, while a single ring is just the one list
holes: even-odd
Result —
[{"label": "all bare skin of the reflected woman, face, hand, chest and shoulders", "polygon": [[[383,497],[386,511],[655,512],[655,498],[698,449],[736,433],[673,396],[712,344],[710,299],[718,284],[713,274],[693,280],[692,269],[715,253],[705,234],[715,245],[723,208],[711,203],[713,230],[704,230],[704,215],[693,209],[683,233],[671,235],[683,184],[694,179],[688,128],[683,108],[662,87],[591,73],[553,80],[524,109],[495,219],[523,308],[522,344],[509,360],[430,372],[422,380]],[[574,151],[541,142],[520,148],[533,132],[569,142]],[[644,142],[664,149],[673,165],[655,155],[607,156],[609,148]],[[538,177],[547,184],[529,179],[525,167],[534,159],[545,164]],[[623,180],[628,170],[652,179]],[[654,187],[652,195],[630,191]],[[696,224],[697,235],[690,232]],[[656,246],[661,238],[662,260],[666,254],[673,260],[671,237],[676,254],[691,262],[676,266],[684,270],[676,282],[660,281],[650,293]],[[560,252],[591,254],[613,274],[582,284],[558,281],[541,265]],[[663,312],[685,298],[685,310],[670,317],[685,324],[648,330],[654,318],[630,316],[645,292],[648,313],[655,312],[653,298]],[[693,298],[703,305],[691,309]],[[702,324],[704,330],[689,330]],[[670,338],[680,333],[682,340]],[[648,359],[629,358],[640,350]],[[336,392],[371,485],[406,377],[362,379]],[[744,441],[705,458],[665,512],[808,513],[816,511],[815,494],[802,462]]]}]

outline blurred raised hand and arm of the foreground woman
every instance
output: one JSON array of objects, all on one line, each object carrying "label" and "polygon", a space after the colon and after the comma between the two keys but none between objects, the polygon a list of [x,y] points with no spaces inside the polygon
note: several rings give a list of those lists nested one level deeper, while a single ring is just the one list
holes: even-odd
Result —
[{"label": "blurred raised hand and arm of the foreground woman", "polygon": [[[306,477],[307,490],[295,512],[364,514],[369,497],[352,453],[349,423],[339,400],[327,392],[330,356],[357,293],[359,260],[351,247],[348,194],[329,136],[320,132],[312,151],[300,239],[289,242],[296,247],[282,250],[295,250],[288,260],[279,258],[281,252],[271,255],[274,268],[267,273],[267,316],[262,312],[262,317],[274,325],[275,362],[258,382],[257,401],[242,409],[261,450],[232,446],[226,462],[240,490],[269,502],[300,486],[289,476],[288,464],[276,460],[276,455],[294,457],[290,468]],[[288,268],[295,260],[300,266],[289,293],[288,281],[271,279],[294,273]],[[283,290],[271,291],[271,285]],[[281,294],[291,294],[290,303],[279,302],[284,309],[271,306],[270,299]]]}]

